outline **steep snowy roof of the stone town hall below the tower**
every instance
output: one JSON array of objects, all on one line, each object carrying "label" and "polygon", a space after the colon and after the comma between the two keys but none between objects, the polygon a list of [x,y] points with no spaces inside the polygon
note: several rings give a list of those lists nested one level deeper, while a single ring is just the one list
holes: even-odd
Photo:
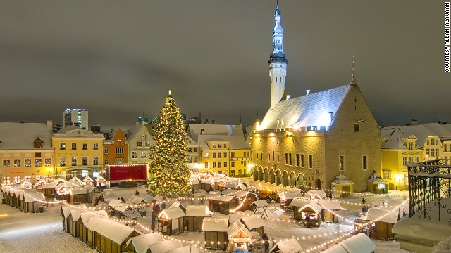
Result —
[{"label": "steep snowy roof of the stone town hall below the tower", "polygon": [[351,85],[345,85],[280,101],[276,107],[266,112],[257,130],[330,126],[330,112],[333,112],[333,115],[337,114],[338,108],[351,87]]}]

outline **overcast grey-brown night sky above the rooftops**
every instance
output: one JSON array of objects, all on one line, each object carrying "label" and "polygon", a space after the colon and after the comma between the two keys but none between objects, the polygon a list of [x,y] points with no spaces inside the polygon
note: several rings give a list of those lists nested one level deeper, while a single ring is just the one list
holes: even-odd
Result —
[{"label": "overcast grey-brown night sky above the rooftops", "polygon": [[[380,126],[451,122],[443,1],[280,0],[287,93],[355,76]],[[168,90],[187,117],[253,124],[269,107],[276,0],[0,1],[0,122],[132,126]]]}]

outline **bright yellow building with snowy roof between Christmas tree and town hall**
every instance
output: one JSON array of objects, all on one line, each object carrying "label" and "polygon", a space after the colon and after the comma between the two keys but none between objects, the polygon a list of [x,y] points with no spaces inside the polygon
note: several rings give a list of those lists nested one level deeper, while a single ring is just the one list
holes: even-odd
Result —
[{"label": "bright yellow building with snowy roof between Christmas tree and town hall", "polygon": [[241,125],[190,124],[188,136],[200,145],[202,169],[229,176],[250,173],[251,149]]}]

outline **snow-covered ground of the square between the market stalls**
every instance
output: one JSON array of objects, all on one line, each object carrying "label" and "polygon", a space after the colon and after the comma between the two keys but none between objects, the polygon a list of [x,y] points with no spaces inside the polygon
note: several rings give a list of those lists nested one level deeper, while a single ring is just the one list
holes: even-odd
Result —
[{"label": "snow-covered ground of the square between the market stalls", "polygon": [[[251,183],[252,181],[249,180]],[[105,190],[106,196],[111,195],[116,199],[117,197],[124,197],[125,200],[128,197],[135,195],[136,190],[139,190],[140,195],[146,195],[146,188],[144,186],[140,188],[111,188]],[[381,200],[383,198],[404,199],[406,192],[395,192],[389,195],[372,195],[368,193],[366,195],[355,194],[353,197],[338,198],[342,200],[341,205],[346,211],[339,211],[338,214],[344,216],[351,221],[359,217],[359,212],[362,209],[362,197],[365,198],[366,204]],[[146,197],[149,199],[149,195]],[[150,198],[152,199],[152,198]],[[199,204],[199,201],[194,201]],[[349,202],[349,203],[346,203]],[[171,203],[168,203],[171,204]],[[183,202],[184,205],[194,204],[193,202]],[[206,202],[204,202],[206,204]],[[284,209],[277,208],[278,203],[271,202],[266,210],[270,219],[265,219],[265,233],[268,233],[271,240],[282,240],[286,238],[300,238],[299,244],[307,250],[311,247],[315,247],[328,240],[333,240],[337,237],[335,233],[329,235],[330,232],[338,232],[342,235],[348,231],[351,231],[352,223],[338,220],[337,224],[333,223],[321,223],[319,228],[307,228],[302,226],[299,222],[292,222],[292,211],[285,211]],[[150,228],[152,218],[150,216],[152,207],[144,209],[147,212],[147,216],[139,216],[137,212],[125,211],[128,216],[137,216],[137,221],[142,223],[143,226]],[[10,207],[9,205],[0,205],[0,214],[8,214],[8,216],[0,216],[0,252],[96,252],[94,249],[89,248],[84,242],[78,238],[73,238],[70,234],[63,231],[60,206],[46,207],[42,214],[24,214],[19,212],[18,209]],[[230,214],[230,223],[237,221],[242,215],[252,214],[252,212],[237,212],[237,214]],[[214,214],[214,216],[223,216],[223,214]],[[279,221],[277,220],[279,219]],[[285,219],[285,221],[280,221]],[[290,221],[290,222],[288,222]],[[145,231],[140,226],[135,226],[135,229],[144,233]],[[325,235],[327,233],[327,235]],[[321,236],[319,236],[321,235]],[[311,238],[308,238],[311,236]],[[305,237],[305,239],[302,239]],[[204,242],[204,233],[202,232],[185,232],[180,235],[175,235],[174,238],[181,240],[193,240],[194,242]],[[343,239],[344,240],[344,239]],[[373,240],[376,244],[376,252],[408,252],[400,249],[400,244],[395,240],[382,241]],[[203,244],[201,243],[203,246]],[[271,245],[272,246],[272,245]],[[212,251],[215,253],[223,253],[223,251]]]}]

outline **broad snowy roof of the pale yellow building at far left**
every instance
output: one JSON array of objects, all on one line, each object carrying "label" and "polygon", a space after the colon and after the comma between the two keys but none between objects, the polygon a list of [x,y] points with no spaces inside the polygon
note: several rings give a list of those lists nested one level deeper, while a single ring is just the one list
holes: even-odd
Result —
[{"label": "broad snowy roof of the pale yellow building at far left", "polygon": [[[35,148],[36,138],[42,148]],[[51,131],[43,123],[0,122],[0,141],[0,150],[51,150]]]}]

